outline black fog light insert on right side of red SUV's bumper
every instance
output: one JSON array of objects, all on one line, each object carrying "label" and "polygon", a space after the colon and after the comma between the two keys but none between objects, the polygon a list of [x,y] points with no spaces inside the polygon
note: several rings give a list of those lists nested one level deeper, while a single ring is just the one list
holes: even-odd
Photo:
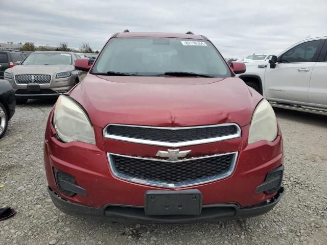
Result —
[{"label": "black fog light insert on right side of red SUV's bumper", "polygon": [[270,171],[266,176],[265,182],[256,187],[255,193],[264,191],[266,194],[271,194],[276,192],[282,185],[283,173],[283,165]]}]

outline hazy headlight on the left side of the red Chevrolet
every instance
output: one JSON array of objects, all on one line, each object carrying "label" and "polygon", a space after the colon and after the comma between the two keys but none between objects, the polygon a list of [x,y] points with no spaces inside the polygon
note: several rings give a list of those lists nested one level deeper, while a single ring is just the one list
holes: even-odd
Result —
[{"label": "hazy headlight on the left side of the red Chevrolet", "polygon": [[54,113],[54,126],[63,142],[95,144],[94,129],[84,110],[66,95],[60,95]]}]

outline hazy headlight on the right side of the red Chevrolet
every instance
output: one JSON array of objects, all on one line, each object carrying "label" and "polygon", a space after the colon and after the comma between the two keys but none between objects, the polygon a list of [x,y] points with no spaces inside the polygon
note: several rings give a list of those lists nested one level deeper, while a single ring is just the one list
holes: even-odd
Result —
[{"label": "hazy headlight on the right side of the red Chevrolet", "polygon": [[273,141],[277,134],[278,127],[275,112],[268,101],[262,100],[253,112],[248,144],[260,140]]}]

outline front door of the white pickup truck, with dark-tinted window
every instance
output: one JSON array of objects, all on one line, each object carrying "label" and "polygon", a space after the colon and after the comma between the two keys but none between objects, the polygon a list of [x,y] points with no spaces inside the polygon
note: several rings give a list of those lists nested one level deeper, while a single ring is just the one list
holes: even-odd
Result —
[{"label": "front door of the white pickup truck, with dark-tinted window", "polygon": [[275,68],[267,66],[264,82],[267,100],[309,103],[310,77],[323,41],[297,44],[277,57]]}]

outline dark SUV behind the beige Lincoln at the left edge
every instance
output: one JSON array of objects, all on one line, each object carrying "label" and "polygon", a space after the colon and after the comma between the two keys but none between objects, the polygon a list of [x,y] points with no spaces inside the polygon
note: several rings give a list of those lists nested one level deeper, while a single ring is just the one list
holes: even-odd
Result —
[{"label": "dark SUV behind the beige Lincoln at the left edge", "polygon": [[21,61],[25,60],[28,56],[28,54],[18,51],[0,50],[0,79],[4,79],[4,72],[6,69],[21,63]]}]

